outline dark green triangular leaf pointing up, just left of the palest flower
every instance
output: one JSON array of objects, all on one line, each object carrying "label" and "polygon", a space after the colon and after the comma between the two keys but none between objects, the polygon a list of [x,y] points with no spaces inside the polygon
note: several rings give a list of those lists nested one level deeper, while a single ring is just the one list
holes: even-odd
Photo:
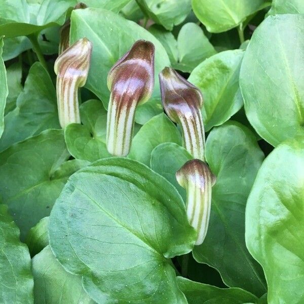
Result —
[{"label": "dark green triangular leaf pointing up, just left of the palest flower", "polygon": [[16,108],[5,116],[4,122],[0,151],[43,130],[60,128],[56,91],[48,72],[39,62],[31,66]]}]

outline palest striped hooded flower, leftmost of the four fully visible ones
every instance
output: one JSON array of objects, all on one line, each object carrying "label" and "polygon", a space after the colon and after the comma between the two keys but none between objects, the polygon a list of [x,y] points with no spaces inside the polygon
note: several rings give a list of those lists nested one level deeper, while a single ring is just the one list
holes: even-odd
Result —
[{"label": "palest striped hooded flower, leftmost of the four fully visible ones", "polygon": [[62,128],[71,123],[81,123],[78,89],[87,81],[91,53],[92,43],[83,38],[67,48],[55,61],[58,115]]}]

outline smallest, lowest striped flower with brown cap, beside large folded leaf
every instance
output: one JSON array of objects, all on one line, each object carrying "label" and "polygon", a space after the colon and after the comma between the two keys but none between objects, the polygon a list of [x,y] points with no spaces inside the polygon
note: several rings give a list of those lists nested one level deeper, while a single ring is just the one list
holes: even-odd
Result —
[{"label": "smallest, lowest striped flower with brown cap, beside large folded leaf", "polygon": [[215,176],[208,165],[198,159],[186,162],[176,172],[177,182],[186,189],[186,210],[189,223],[196,229],[196,245],[203,243],[209,224],[211,192]]}]

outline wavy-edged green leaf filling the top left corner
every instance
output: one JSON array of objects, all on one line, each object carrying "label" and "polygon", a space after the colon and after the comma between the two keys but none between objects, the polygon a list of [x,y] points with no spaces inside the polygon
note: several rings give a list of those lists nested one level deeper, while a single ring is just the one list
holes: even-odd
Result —
[{"label": "wavy-edged green leaf filling the top left corner", "polygon": [[76,4],[76,0],[0,0],[0,7],[5,8],[0,16],[0,35],[9,38],[27,36],[50,26],[62,25],[67,10]]}]

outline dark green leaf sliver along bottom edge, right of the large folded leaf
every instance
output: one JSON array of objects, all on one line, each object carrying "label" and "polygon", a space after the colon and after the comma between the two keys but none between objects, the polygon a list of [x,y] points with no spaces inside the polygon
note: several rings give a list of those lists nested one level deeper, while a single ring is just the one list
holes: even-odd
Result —
[{"label": "dark green leaf sliver along bottom edge, right of the large folded leaf", "polygon": [[189,304],[243,304],[257,301],[256,296],[241,288],[218,288],[183,277],[178,277],[177,282]]}]

